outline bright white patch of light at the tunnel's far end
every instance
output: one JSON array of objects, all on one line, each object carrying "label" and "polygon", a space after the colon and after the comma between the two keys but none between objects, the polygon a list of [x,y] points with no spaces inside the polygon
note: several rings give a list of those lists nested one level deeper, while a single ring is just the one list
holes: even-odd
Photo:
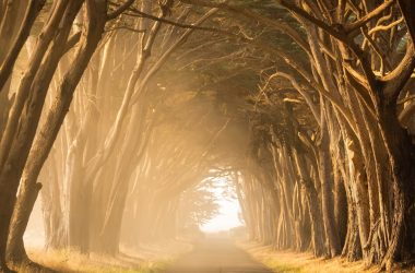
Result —
[{"label": "bright white patch of light at the tunnel's far end", "polygon": [[201,226],[202,232],[217,233],[244,225],[238,216],[240,215],[238,200],[235,197],[227,197],[223,192],[223,187],[225,187],[228,182],[229,181],[226,178],[218,178],[216,182],[217,187],[212,189],[217,197],[220,213]]}]

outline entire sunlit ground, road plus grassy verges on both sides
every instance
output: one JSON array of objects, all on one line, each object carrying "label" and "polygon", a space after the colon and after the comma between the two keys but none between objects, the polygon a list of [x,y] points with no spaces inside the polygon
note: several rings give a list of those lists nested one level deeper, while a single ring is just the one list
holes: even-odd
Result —
[{"label": "entire sunlit ground, road plus grassy verges on both sides", "polygon": [[[174,240],[127,249],[117,257],[81,256],[68,251],[31,250],[29,257],[54,272],[91,273],[375,273],[359,262],[313,258],[311,253],[274,251],[260,244],[244,242],[224,235],[195,240]],[[129,253],[129,254],[123,254]],[[26,271],[27,272],[27,271]],[[415,272],[405,270],[399,272]],[[31,272],[32,273],[32,272]]]}]

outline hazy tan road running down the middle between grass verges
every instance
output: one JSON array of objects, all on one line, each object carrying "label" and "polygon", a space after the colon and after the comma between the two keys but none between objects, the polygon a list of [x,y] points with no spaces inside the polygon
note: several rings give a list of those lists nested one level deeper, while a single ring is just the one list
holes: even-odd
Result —
[{"label": "hazy tan road running down the middle between grass verges", "polygon": [[208,237],[166,273],[271,273],[227,238]]}]

